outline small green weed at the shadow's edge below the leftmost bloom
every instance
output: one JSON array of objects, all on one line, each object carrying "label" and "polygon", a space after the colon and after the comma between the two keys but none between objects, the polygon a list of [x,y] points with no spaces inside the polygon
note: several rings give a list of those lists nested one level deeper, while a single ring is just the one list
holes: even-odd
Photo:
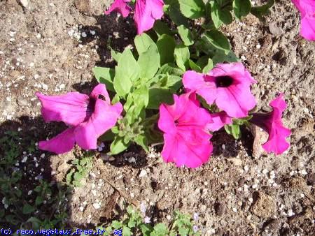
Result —
[{"label": "small green weed at the shadow's edge below the leftmost bloom", "polygon": [[86,153],[81,158],[75,158],[72,161],[73,167],[66,175],[66,183],[76,187],[83,186],[83,180],[88,176],[90,170],[92,170],[92,154]]}]

